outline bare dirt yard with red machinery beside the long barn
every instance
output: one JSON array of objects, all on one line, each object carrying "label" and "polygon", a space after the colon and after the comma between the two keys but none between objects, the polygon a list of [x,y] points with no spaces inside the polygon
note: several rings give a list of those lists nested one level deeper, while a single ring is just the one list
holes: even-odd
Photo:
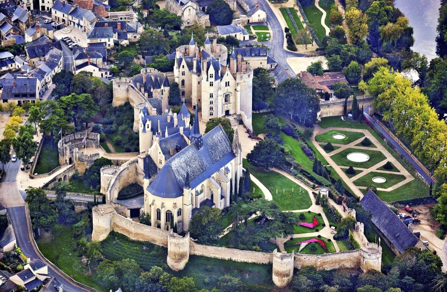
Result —
[{"label": "bare dirt yard with red machinery beside the long barn", "polygon": [[[420,206],[412,206],[413,210],[416,210],[420,214],[417,215],[417,218],[421,220],[421,223],[418,224],[412,224],[411,228],[414,232],[420,232],[421,233],[421,240],[428,241],[430,244],[428,245],[428,248],[430,250],[435,250],[437,254],[441,252],[444,245],[444,240],[440,239],[435,231],[439,228],[439,222],[436,220],[433,220],[430,217],[430,210],[429,208],[433,207],[434,204],[426,204],[426,205],[420,205]],[[405,210],[405,208],[398,208],[399,213],[406,213],[409,214]],[[410,214],[409,214],[410,215]]]}]

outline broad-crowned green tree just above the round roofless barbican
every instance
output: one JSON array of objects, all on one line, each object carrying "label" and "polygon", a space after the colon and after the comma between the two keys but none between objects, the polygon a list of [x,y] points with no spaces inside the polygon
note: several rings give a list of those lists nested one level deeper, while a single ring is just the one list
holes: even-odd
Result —
[{"label": "broad-crowned green tree just above the round roofless barbican", "polygon": [[85,127],[88,127],[89,119],[92,118],[97,111],[92,96],[87,93],[72,93],[63,96],[59,98],[59,106],[65,111],[66,115],[72,118],[75,128],[79,126],[78,123],[80,120],[84,121]]}]

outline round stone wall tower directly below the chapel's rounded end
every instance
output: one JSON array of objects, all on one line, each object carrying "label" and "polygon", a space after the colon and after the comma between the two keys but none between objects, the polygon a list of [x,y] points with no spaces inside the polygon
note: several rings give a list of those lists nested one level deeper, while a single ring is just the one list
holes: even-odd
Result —
[{"label": "round stone wall tower directly below the chapel's rounded end", "polygon": [[183,270],[190,259],[190,233],[181,237],[173,230],[168,232],[168,266],[174,271]]}]

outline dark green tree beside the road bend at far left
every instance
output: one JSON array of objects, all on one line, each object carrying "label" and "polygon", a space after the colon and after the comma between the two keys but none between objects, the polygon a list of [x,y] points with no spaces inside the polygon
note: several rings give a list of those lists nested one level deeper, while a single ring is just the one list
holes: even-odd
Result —
[{"label": "dark green tree beside the road bend at far left", "polygon": [[46,197],[41,188],[29,186],[25,190],[28,208],[30,210],[31,222],[35,229],[42,228],[49,231],[57,222],[57,213],[50,199]]}]

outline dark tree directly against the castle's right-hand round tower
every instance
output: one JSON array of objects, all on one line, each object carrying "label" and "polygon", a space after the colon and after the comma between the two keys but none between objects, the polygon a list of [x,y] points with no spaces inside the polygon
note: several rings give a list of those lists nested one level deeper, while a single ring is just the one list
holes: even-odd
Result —
[{"label": "dark tree directly against the castle's right-hand round tower", "polygon": [[253,110],[261,110],[274,102],[275,91],[272,88],[274,78],[264,68],[253,70]]}]

